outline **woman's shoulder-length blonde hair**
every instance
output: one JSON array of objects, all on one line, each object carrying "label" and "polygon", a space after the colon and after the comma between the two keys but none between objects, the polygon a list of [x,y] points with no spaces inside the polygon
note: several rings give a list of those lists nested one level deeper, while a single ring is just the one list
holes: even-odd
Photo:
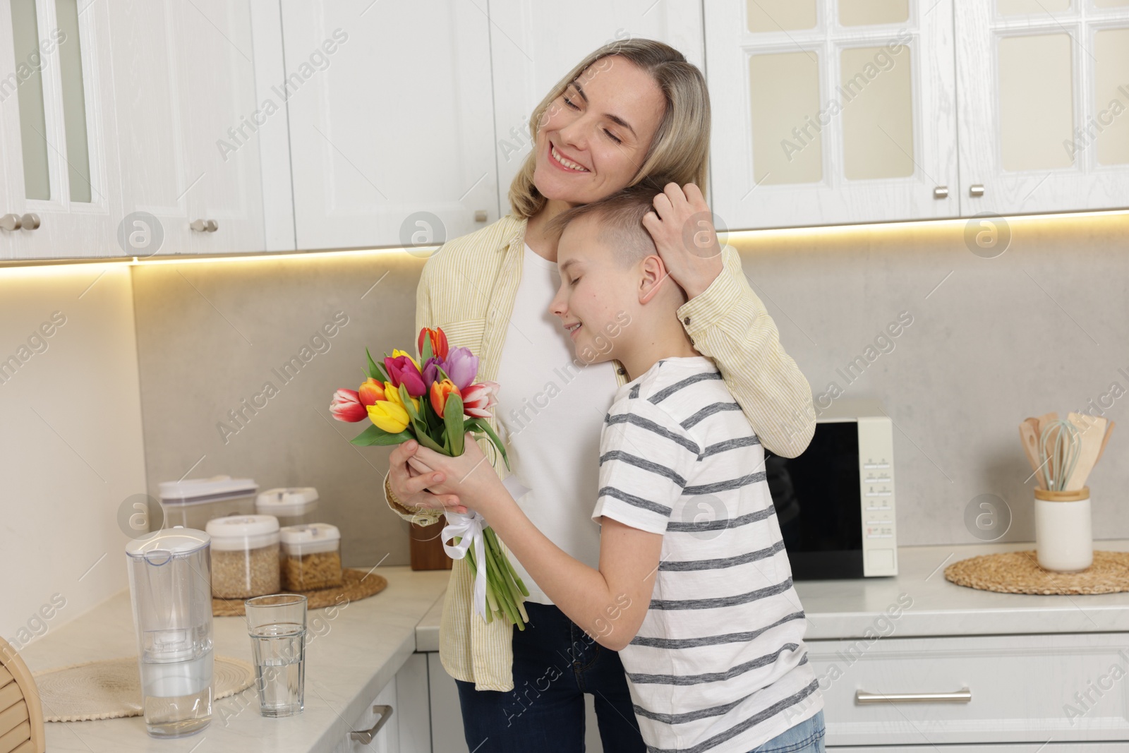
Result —
[{"label": "woman's shoulder-length blonde hair", "polygon": [[[693,183],[704,192],[710,128],[706,79],[681,52],[655,40],[610,42],[581,60],[533,111],[530,117],[531,140],[536,142],[542,115],[553,100],[589,65],[609,55],[620,55],[650,73],[666,100],[666,110],[650,148],[628,185],[634,185],[647,176],[662,175],[666,182],[680,185]],[[533,217],[548,201],[533,184],[536,164],[537,150],[534,147],[509,184],[509,205],[517,217]]]}]

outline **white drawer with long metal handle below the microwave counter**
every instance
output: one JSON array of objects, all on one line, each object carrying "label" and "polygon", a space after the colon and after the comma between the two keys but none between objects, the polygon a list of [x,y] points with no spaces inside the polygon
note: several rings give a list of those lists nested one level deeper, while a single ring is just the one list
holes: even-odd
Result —
[{"label": "white drawer with long metal handle below the microwave counter", "polygon": [[[829,747],[1129,739],[1129,633],[811,640],[807,647]],[[858,691],[962,689],[969,700],[856,699]]]}]

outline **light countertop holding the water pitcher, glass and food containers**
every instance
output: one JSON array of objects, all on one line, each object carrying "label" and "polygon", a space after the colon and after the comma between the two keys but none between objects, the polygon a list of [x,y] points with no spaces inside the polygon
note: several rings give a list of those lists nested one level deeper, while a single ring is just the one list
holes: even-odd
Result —
[{"label": "light countertop holding the water pitcher, glass and food containers", "polygon": [[[52,753],[120,751],[187,753],[207,739],[203,751],[331,751],[360,718],[367,703],[415,650],[415,625],[447,586],[449,570],[413,572],[408,567],[376,568],[388,586],[379,594],[349,603],[331,616],[310,610],[306,646],[305,710],[285,719],[259,715],[257,697],[250,706],[237,697],[215,701],[212,721],[202,732],[178,739],[149,737],[141,717],[46,725]],[[251,662],[251,641],[243,618],[215,619],[215,650]],[[77,620],[51,630],[20,655],[33,673],[84,662],[137,656],[130,595],[123,590]]]}]

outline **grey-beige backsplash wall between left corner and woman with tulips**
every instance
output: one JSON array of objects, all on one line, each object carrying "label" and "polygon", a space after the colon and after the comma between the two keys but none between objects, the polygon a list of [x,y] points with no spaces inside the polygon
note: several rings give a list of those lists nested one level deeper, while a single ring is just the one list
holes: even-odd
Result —
[{"label": "grey-beige backsplash wall between left corner and woman with tulips", "polygon": [[414,353],[422,265],[392,251],[134,268],[150,492],[185,474],[315,487],[347,566],[406,564],[409,525],[384,502],[391,449],[349,444],[367,422],[329,406],[364,380],[366,347]]}]

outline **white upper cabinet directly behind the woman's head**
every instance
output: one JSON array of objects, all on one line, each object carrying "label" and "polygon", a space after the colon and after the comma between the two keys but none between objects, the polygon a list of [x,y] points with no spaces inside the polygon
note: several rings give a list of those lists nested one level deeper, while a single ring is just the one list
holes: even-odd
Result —
[{"label": "white upper cabinet directly behind the woman's head", "polygon": [[504,213],[509,211],[510,181],[532,148],[534,107],[588,53],[609,42],[642,37],[669,44],[699,68],[704,63],[699,0],[578,0],[567,12],[535,0],[491,0],[490,18],[498,204]]}]

